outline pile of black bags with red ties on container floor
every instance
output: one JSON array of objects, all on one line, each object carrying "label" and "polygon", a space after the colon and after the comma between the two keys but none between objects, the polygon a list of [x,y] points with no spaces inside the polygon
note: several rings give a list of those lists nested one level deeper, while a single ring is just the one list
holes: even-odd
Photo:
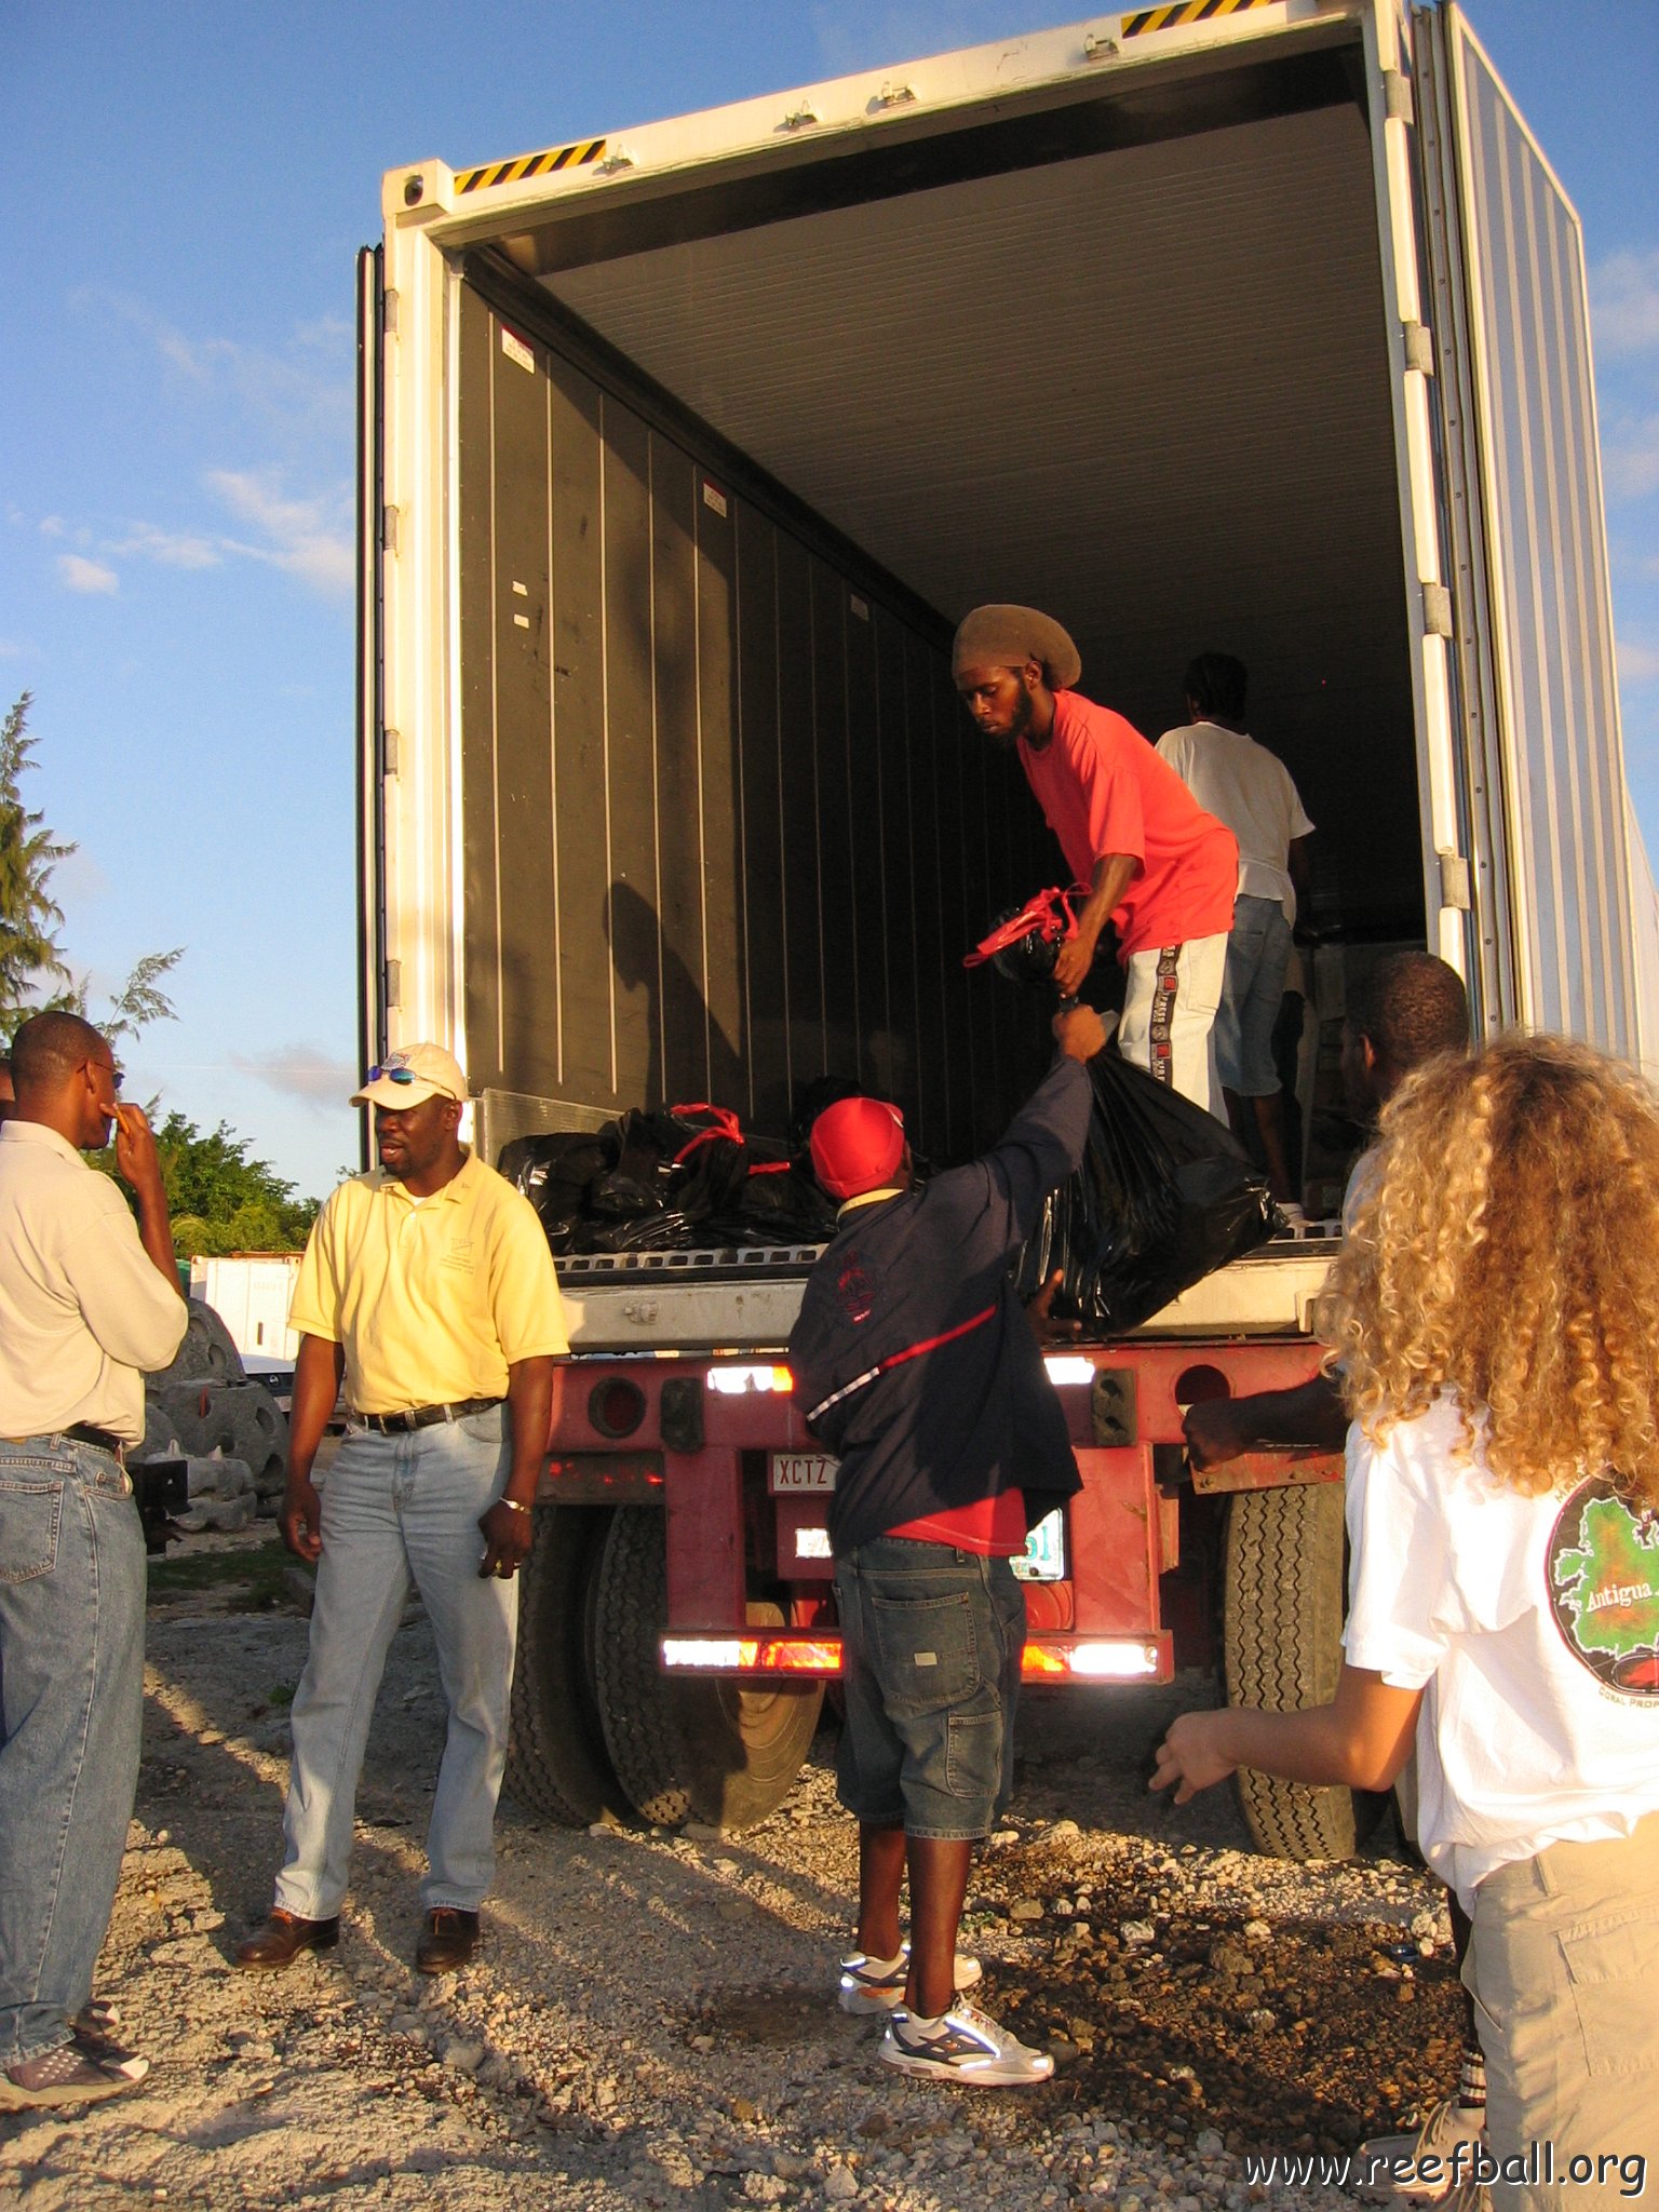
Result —
[{"label": "pile of black bags with red ties on container floor", "polygon": [[745,1133],[723,1106],[518,1137],[502,1146],[500,1170],[542,1217],[555,1254],[827,1243],[836,1232],[810,1166]]}]

